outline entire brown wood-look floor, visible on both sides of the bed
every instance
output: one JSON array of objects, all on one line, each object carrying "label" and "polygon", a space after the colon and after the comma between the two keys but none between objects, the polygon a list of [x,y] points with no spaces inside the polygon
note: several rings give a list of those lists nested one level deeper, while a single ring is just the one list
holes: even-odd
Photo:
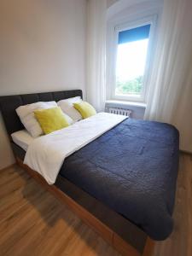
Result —
[{"label": "entire brown wood-look floor, visible on both sides of the bed", "polygon": [[[180,157],[175,230],[154,256],[192,255],[192,158]],[[18,166],[0,171],[0,255],[119,255]]]}]

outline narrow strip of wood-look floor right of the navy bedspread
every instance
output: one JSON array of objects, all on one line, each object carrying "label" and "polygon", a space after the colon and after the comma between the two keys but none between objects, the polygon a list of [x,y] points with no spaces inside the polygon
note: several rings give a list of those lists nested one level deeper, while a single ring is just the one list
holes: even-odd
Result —
[{"label": "narrow strip of wood-look floor right of the navy bedspread", "polygon": [[192,157],[180,155],[174,230],[166,241],[156,242],[154,256],[192,255]]}]

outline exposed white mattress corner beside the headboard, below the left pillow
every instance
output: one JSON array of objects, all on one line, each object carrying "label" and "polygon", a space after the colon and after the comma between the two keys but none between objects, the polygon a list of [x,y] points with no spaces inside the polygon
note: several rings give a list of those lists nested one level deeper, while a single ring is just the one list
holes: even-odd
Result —
[{"label": "exposed white mattress corner beside the headboard, below the left pillow", "polygon": [[20,146],[20,148],[23,148],[25,151],[27,150],[30,143],[32,143],[34,140],[34,138],[26,130],[15,131],[11,134],[11,137],[15,144]]}]

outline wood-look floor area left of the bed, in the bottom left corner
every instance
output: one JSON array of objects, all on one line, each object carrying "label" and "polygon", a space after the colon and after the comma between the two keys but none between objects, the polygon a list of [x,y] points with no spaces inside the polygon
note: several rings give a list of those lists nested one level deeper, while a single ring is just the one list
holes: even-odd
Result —
[{"label": "wood-look floor area left of the bed, in the bottom left corner", "polygon": [[0,180],[0,255],[119,256],[20,167]]}]

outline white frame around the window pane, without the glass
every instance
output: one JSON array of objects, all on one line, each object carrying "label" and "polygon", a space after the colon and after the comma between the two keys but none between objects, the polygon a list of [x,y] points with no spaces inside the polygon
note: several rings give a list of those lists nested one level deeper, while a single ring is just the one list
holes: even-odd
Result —
[{"label": "white frame around the window pane, without the glass", "polygon": [[[150,15],[144,17],[143,19],[139,20],[131,20],[129,22],[125,22],[118,26],[114,26],[114,33],[113,33],[113,82],[109,88],[110,97],[112,100],[121,100],[121,101],[129,101],[129,102],[146,102],[147,93],[148,93],[148,79],[150,77],[151,69],[152,69],[152,57],[154,52],[154,35],[155,35],[155,28],[157,26],[157,18],[158,15]],[[117,49],[118,49],[118,42],[119,42],[119,32],[129,30],[132,28],[137,28],[139,26],[150,25],[150,32],[148,36],[148,53],[145,65],[145,71],[143,74],[143,90],[141,96],[117,96],[115,95],[116,89],[116,63],[117,63]]]}]

